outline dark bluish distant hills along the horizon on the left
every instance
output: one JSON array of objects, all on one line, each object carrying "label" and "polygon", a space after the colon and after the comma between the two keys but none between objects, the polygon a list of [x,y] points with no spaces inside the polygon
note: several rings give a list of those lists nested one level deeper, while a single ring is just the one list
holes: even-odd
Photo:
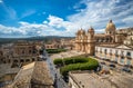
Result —
[{"label": "dark bluish distant hills along the horizon on the left", "polygon": [[27,40],[27,41],[48,41],[52,39],[72,39],[74,37],[59,37],[59,36],[45,36],[45,37],[30,37],[30,38],[0,38],[0,45],[1,43],[9,43],[9,42],[16,42],[18,40]]}]

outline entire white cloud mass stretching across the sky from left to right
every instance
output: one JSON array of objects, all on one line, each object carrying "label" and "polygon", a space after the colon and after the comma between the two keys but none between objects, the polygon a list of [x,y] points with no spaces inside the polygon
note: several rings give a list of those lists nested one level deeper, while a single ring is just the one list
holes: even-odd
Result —
[{"label": "entire white cloud mass stretching across the sky from left to right", "polygon": [[[83,28],[88,30],[92,26],[96,32],[104,32],[105,26],[110,19],[116,25],[116,28],[132,27],[133,22],[133,1],[119,4],[122,0],[82,0],[74,6],[78,11],[64,20],[55,16],[49,16],[42,23],[29,23],[20,21],[19,28],[6,27],[0,25],[0,33],[18,36],[74,36],[76,30]],[[85,9],[79,9],[80,4],[85,4]],[[119,4],[119,6],[117,6]],[[25,12],[23,18],[34,13]],[[120,25],[122,23],[122,25]]]}]

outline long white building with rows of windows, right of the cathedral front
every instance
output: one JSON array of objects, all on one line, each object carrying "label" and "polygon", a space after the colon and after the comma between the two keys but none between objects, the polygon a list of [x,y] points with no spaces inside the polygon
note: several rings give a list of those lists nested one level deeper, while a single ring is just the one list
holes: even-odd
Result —
[{"label": "long white building with rows of windows, right of the cathedral front", "polygon": [[95,46],[95,56],[101,59],[108,59],[108,60],[117,62],[120,65],[133,66],[133,47],[129,47],[125,45]]}]

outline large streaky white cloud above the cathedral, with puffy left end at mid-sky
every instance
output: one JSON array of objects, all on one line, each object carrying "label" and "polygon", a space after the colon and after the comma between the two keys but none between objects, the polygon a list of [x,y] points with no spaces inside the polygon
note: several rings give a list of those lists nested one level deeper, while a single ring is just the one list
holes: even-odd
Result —
[{"label": "large streaky white cloud above the cathedral, with puffy left end at mid-sky", "polygon": [[[68,17],[68,21],[59,17],[50,16],[48,25],[51,27],[64,28],[65,31],[74,32],[83,28],[88,30],[92,26],[96,32],[104,32],[106,23],[110,19],[116,25],[116,28],[132,27],[133,21],[133,1],[120,4],[122,0],[82,0],[74,6],[75,10],[80,12]],[[85,9],[79,9],[82,4],[85,4]],[[119,6],[117,6],[119,4]],[[122,25],[120,25],[122,23]],[[72,35],[73,33],[73,35]]]}]

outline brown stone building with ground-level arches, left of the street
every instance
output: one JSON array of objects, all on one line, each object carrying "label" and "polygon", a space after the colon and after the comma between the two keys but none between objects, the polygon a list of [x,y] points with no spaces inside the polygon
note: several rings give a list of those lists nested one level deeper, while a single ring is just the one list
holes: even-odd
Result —
[{"label": "brown stone building with ground-level arches, left of the street", "polygon": [[18,41],[1,47],[1,63],[25,65],[40,59],[40,50],[42,46],[38,42]]}]

